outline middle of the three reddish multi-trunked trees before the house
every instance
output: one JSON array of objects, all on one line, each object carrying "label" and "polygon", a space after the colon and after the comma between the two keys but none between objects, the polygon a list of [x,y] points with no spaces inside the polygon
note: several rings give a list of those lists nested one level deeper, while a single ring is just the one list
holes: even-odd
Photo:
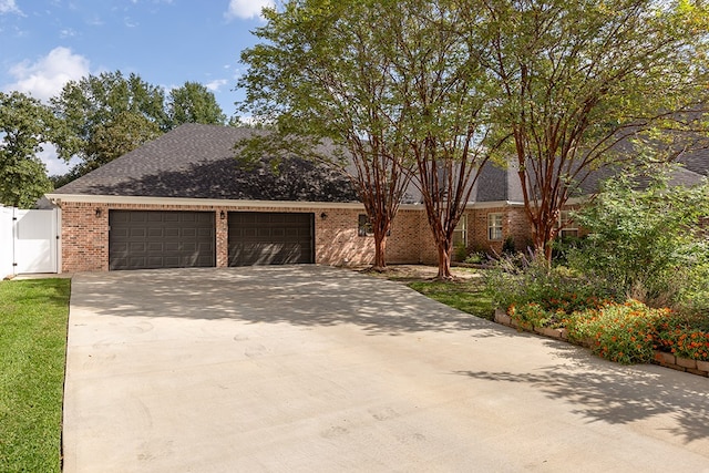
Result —
[{"label": "middle of the three reddish multi-trunked trees before the house", "polygon": [[491,84],[471,51],[481,40],[460,29],[459,2],[397,3],[388,19],[394,96],[405,112],[412,182],[435,241],[438,278],[450,279],[453,233],[482,166],[504,136],[491,125]]}]

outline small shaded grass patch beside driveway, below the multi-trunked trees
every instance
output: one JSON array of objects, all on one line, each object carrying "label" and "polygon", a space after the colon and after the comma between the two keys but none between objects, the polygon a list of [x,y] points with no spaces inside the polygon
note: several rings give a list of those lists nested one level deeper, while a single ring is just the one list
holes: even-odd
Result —
[{"label": "small shaded grass patch beside driveway, below the multi-trunked trees", "polygon": [[408,286],[431,299],[464,312],[489,320],[494,317],[492,299],[485,294],[479,280],[414,281],[409,282]]}]

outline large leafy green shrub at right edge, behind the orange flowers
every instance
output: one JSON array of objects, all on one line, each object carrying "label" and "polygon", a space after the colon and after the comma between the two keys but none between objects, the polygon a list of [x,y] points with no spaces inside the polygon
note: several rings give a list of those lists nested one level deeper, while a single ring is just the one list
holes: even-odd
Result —
[{"label": "large leafy green shrub at right edge, behind the orange flowers", "polygon": [[709,186],[670,187],[655,173],[637,187],[637,179],[613,178],[576,214],[588,236],[568,250],[569,265],[619,295],[679,304],[706,284],[709,247],[699,219],[709,212]]}]

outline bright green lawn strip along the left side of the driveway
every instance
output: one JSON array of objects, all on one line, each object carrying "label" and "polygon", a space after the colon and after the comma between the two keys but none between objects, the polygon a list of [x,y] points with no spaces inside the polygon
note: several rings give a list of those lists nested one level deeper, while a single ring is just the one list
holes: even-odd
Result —
[{"label": "bright green lawn strip along the left side of the driveway", "polygon": [[60,472],[69,279],[0,282],[0,471]]}]

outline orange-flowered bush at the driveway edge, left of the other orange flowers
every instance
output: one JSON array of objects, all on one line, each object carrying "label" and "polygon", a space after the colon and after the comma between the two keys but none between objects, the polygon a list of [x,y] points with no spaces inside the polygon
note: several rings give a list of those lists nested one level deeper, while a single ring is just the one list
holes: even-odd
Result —
[{"label": "orange-flowered bush at the driveway edge, left of the other orange flowers", "polygon": [[594,353],[624,364],[653,359],[657,327],[669,309],[651,309],[637,300],[576,312],[566,320],[568,337],[590,342]]}]

